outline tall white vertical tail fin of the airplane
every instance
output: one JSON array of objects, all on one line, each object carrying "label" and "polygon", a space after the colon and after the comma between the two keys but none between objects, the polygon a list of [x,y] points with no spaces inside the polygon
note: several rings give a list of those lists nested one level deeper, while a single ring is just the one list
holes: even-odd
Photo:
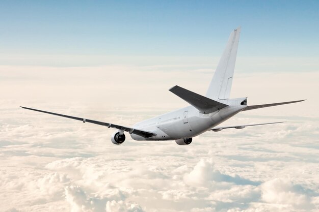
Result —
[{"label": "tall white vertical tail fin of the airplane", "polygon": [[228,43],[206,93],[209,99],[229,99],[240,33],[241,27],[230,33]]}]

